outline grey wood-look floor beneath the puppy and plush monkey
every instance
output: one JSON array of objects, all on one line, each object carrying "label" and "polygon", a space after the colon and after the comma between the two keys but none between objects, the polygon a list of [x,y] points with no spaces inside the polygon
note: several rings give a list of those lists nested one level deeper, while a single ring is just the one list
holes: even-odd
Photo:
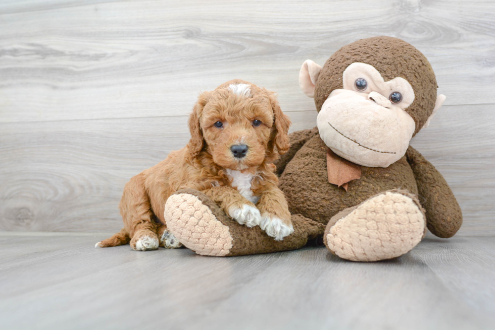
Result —
[{"label": "grey wood-look floor beneath the puppy and plush monkey", "polygon": [[493,329],[495,239],[428,236],[394,260],[326,248],[215,258],[0,235],[2,329]]}]

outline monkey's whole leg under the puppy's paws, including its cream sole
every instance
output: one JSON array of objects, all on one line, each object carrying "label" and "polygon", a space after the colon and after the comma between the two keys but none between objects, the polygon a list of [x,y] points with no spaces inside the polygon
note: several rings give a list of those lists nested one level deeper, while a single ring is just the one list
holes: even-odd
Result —
[{"label": "monkey's whole leg under the puppy's paws, including its cream sole", "polygon": [[233,256],[301,248],[323,234],[324,226],[300,215],[292,216],[294,232],[275,241],[260,227],[249,228],[228,217],[207,195],[194,189],[172,194],[165,204],[167,229],[197,254]]}]

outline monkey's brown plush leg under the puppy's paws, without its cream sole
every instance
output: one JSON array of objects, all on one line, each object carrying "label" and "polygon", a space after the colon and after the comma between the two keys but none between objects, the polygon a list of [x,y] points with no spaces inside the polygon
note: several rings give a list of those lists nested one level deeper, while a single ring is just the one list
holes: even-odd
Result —
[{"label": "monkey's brown plush leg under the puppy's paws, without its cream sole", "polygon": [[176,194],[179,193],[188,193],[198,197],[204,205],[210,208],[217,220],[229,227],[229,232],[233,241],[232,248],[227,256],[288,251],[302,248],[309,239],[321,237],[325,230],[325,226],[320,223],[307,219],[301,215],[292,215],[291,220],[292,225],[294,226],[294,232],[289,236],[284,237],[282,241],[276,241],[263,232],[258,226],[248,228],[238,224],[228,217],[218,205],[201,191],[181,189],[176,192]]}]

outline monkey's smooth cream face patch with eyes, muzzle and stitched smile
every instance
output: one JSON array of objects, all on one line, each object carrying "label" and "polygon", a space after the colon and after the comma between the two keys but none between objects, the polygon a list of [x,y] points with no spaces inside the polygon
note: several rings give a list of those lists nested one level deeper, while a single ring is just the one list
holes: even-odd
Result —
[{"label": "monkey's smooth cream face patch with eyes, muzzle and stitched smile", "polygon": [[388,167],[409,146],[414,119],[405,111],[414,90],[401,77],[385,82],[372,65],[355,62],[342,75],[318,113],[320,137],[334,153],[353,163]]}]

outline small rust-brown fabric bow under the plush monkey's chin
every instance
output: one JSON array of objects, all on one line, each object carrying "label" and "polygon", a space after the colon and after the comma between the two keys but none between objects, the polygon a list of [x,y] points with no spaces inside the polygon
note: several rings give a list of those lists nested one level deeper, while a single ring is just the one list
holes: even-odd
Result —
[{"label": "small rust-brown fabric bow under the plush monkey's chin", "polygon": [[351,163],[336,155],[328,148],[327,150],[328,182],[341,186],[347,191],[348,182],[361,178],[361,166]]}]

